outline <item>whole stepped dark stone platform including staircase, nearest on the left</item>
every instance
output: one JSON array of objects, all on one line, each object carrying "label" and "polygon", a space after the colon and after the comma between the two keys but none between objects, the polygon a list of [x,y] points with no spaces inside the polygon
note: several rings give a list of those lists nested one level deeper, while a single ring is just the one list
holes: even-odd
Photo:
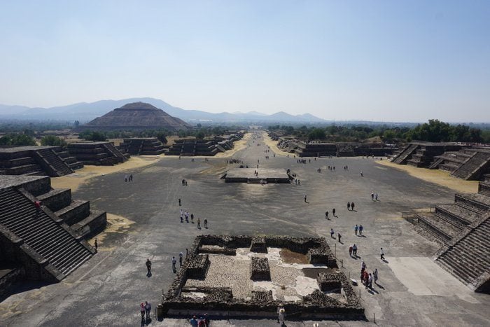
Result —
[{"label": "whole stepped dark stone platform including staircase, nearest on the left", "polygon": [[[36,202],[41,205],[36,207]],[[106,212],[53,189],[48,176],[0,179],[0,294],[15,281],[60,281],[95,253],[85,239],[106,227]]]}]

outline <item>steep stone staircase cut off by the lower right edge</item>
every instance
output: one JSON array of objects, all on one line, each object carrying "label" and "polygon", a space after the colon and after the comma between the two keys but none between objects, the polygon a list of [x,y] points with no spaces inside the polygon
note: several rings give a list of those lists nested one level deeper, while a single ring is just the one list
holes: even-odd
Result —
[{"label": "steep stone staircase cut off by the lower right edge", "polygon": [[475,291],[488,293],[490,277],[490,216],[451,244],[436,262]]}]

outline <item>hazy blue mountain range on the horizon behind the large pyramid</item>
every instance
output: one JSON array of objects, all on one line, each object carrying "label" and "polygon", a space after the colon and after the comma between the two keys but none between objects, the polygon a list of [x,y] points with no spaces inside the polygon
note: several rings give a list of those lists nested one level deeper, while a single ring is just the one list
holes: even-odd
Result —
[{"label": "hazy blue mountain range on the horizon behind the large pyramid", "polygon": [[69,104],[68,106],[54,106],[52,108],[29,108],[27,106],[7,106],[0,104],[0,119],[20,120],[79,120],[80,123],[103,116],[109,111],[120,108],[132,102],[146,102],[167,112],[170,116],[181,118],[188,123],[326,123],[325,120],[309,113],[290,115],[283,111],[266,115],[250,111],[248,113],[208,113],[200,110],[186,110],[171,106],[160,99],[133,98],[123,100],[102,100],[92,103]]}]

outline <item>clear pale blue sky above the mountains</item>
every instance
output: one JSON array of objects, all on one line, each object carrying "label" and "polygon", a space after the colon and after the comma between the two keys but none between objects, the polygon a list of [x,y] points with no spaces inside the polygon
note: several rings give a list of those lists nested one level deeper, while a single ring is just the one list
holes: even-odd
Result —
[{"label": "clear pale blue sky above the mountains", "polygon": [[490,1],[0,0],[0,104],[490,121]]}]

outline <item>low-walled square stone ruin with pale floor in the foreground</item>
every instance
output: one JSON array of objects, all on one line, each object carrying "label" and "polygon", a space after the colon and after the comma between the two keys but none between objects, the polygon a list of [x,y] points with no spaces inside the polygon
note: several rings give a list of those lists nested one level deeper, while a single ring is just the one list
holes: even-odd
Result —
[{"label": "low-walled square stone ruin with pale floor in the foreground", "polygon": [[[260,251],[251,251],[255,249]],[[304,258],[304,263],[288,264],[287,253]],[[163,297],[162,312],[275,318],[279,304],[297,319],[365,319],[323,237],[198,236]]]}]

